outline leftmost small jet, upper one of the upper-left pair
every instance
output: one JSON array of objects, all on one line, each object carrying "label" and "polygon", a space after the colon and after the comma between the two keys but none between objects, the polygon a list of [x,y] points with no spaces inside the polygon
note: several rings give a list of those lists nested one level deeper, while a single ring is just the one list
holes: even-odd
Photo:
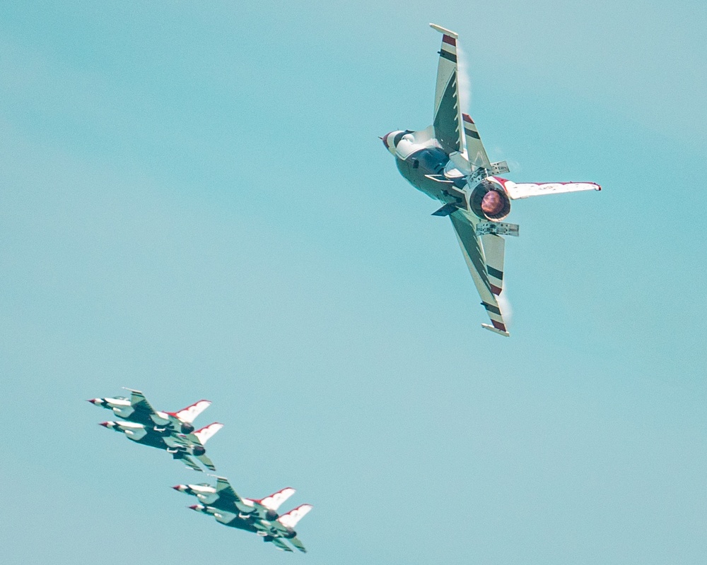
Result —
[{"label": "leftmost small jet, upper one of the upper-left pair", "polygon": [[194,420],[211,405],[211,400],[199,400],[177,412],[158,412],[152,408],[141,391],[134,391],[132,388],[125,390],[130,391],[129,399],[117,396],[116,398],[91,398],[88,402],[112,410],[117,417],[128,422],[154,427],[156,432],[164,432],[168,429],[174,434],[194,432]]}]

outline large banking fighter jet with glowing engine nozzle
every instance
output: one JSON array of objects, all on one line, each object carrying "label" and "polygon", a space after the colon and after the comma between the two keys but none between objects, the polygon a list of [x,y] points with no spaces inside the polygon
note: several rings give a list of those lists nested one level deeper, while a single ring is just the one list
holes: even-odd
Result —
[{"label": "large banking fighter jet with glowing engine nozzle", "polygon": [[449,216],[462,254],[491,325],[508,336],[498,297],[503,292],[503,236],[518,236],[518,225],[501,222],[511,201],[543,194],[601,190],[593,182],[515,183],[498,175],[510,172],[506,161],[491,162],[474,120],[459,103],[459,66],[455,32],[431,23],[442,34],[433,124],[420,131],[391,131],[383,145],[412,186],[443,204],[433,213]]}]

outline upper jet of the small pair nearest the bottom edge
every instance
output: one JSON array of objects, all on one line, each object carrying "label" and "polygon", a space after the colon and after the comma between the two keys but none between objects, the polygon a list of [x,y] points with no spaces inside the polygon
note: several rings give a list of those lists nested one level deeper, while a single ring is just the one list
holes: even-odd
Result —
[{"label": "upper jet of the small pair nearest the bottom edge", "polygon": [[172,488],[196,496],[201,503],[215,509],[238,513],[239,518],[262,518],[269,521],[279,517],[277,509],[296,492],[295,489],[286,487],[264,499],[245,499],[233,490],[225,477],[216,477],[216,487],[201,483],[177,484]]}]

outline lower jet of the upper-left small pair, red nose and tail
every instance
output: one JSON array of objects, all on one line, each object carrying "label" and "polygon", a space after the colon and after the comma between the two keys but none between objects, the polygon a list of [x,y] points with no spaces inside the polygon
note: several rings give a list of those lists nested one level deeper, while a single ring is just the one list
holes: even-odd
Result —
[{"label": "lower jet of the upper-left small pair, red nose and tail", "polygon": [[180,459],[187,467],[201,471],[201,467],[192,459],[197,458],[204,467],[214,471],[214,463],[206,456],[206,441],[211,439],[223,424],[214,422],[192,434],[173,434],[170,429],[146,426],[137,422],[101,422],[100,424],[125,436],[138,444],[163,449],[172,454],[174,459]]}]

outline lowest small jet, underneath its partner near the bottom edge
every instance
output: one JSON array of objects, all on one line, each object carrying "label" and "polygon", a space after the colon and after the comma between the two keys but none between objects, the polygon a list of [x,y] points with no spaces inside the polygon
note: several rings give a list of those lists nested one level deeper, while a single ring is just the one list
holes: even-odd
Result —
[{"label": "lowest small jet, underneath its partner near the bottom edge", "polygon": [[214,516],[218,523],[228,525],[231,528],[255,532],[263,538],[264,542],[272,543],[281,551],[292,551],[291,547],[285,542],[285,540],[288,540],[294,547],[299,549],[300,552],[307,552],[307,549],[305,549],[302,542],[298,539],[297,532],[294,528],[295,525],[297,525],[297,523],[312,509],[311,504],[302,504],[296,509],[289,511],[274,520],[258,518],[255,515],[242,518],[240,513],[221,510],[215,506],[209,506],[207,504],[194,504],[193,506],[189,506],[189,508],[203,514]]}]

